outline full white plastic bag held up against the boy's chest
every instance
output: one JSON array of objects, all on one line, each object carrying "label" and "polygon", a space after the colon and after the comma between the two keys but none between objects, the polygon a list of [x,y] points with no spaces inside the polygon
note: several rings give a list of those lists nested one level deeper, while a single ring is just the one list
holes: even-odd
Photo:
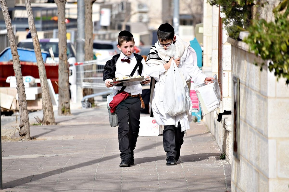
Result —
[{"label": "full white plastic bag held up against the boy's chest", "polygon": [[172,60],[171,67],[166,74],[166,82],[164,89],[164,111],[170,116],[182,114],[188,110],[190,106],[186,98],[185,86],[187,86],[184,77]]}]

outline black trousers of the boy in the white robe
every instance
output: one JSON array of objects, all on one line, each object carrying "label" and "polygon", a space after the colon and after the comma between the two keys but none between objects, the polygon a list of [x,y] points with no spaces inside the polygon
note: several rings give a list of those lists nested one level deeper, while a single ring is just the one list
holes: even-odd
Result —
[{"label": "black trousers of the boy in the white robe", "polygon": [[163,144],[166,152],[166,160],[168,157],[175,157],[179,159],[181,152],[181,145],[184,143],[185,131],[181,131],[181,124],[178,127],[175,125],[164,125]]}]

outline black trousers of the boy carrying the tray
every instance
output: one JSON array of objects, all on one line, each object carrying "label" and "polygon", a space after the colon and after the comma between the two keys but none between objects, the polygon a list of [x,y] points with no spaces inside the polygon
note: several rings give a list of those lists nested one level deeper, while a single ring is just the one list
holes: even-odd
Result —
[{"label": "black trousers of the boy carrying the tray", "polygon": [[140,98],[130,96],[116,107],[118,147],[121,159],[134,156],[134,148],[140,131],[140,109]]}]

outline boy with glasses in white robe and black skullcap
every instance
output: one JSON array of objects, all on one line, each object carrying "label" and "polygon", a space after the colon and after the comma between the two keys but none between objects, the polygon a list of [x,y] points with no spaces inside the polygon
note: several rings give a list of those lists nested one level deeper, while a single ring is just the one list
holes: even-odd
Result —
[{"label": "boy with glasses in white robe and black skullcap", "polygon": [[[166,71],[170,68],[172,60],[175,61],[184,79],[195,83],[211,81],[197,66],[197,54],[188,43],[175,35],[173,26],[168,23],[158,28],[158,42],[151,48],[146,63],[147,75],[152,78],[152,90],[150,99],[150,112],[155,117],[158,125],[164,125],[163,144],[166,151],[166,165],[176,165],[179,160],[181,145],[186,129],[190,129],[191,107],[187,112],[176,116],[170,116],[164,111],[164,95]],[[190,90],[185,87],[186,93]]]}]

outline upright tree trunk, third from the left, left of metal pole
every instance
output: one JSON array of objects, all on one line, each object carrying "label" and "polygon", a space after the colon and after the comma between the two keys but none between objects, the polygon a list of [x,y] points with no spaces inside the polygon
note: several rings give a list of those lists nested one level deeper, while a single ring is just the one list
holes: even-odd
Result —
[{"label": "upright tree trunk, third from the left, left of metal pole", "polygon": [[[57,5],[58,25],[58,115],[70,115],[69,103],[69,63],[67,63],[65,3],[66,0],[55,0]],[[73,63],[74,64],[74,63]]]}]

